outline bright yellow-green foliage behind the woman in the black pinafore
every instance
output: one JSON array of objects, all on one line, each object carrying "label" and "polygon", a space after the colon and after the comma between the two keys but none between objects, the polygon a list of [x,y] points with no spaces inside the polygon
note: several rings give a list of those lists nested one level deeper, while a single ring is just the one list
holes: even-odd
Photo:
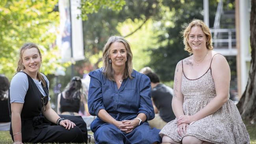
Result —
[{"label": "bright yellow-green foliage behind the woman in the black pinafore", "polygon": [[53,11],[58,0],[0,0],[0,3],[0,73],[9,78],[14,75],[19,48],[25,42],[34,42],[41,48],[41,72],[54,73],[62,66],[58,49],[52,46],[59,24],[59,12]]}]

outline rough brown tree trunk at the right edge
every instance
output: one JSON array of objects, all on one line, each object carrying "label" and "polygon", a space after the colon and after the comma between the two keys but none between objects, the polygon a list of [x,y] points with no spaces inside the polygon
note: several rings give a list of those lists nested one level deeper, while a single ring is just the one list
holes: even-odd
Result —
[{"label": "rough brown tree trunk at the right edge", "polygon": [[251,123],[254,123],[256,120],[256,0],[251,0],[250,46],[252,48],[252,59],[250,63],[249,79],[245,92],[241,96],[237,107],[243,120],[250,120]]}]

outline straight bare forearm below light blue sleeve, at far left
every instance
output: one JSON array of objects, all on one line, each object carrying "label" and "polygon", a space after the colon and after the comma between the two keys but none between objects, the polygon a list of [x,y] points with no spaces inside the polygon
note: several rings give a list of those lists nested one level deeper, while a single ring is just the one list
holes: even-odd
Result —
[{"label": "straight bare forearm below light blue sleeve, at far left", "polygon": [[13,130],[13,134],[16,134],[13,136],[14,141],[22,141],[22,133],[21,132],[21,118],[20,113],[23,108],[23,103],[11,103],[11,127]]}]

